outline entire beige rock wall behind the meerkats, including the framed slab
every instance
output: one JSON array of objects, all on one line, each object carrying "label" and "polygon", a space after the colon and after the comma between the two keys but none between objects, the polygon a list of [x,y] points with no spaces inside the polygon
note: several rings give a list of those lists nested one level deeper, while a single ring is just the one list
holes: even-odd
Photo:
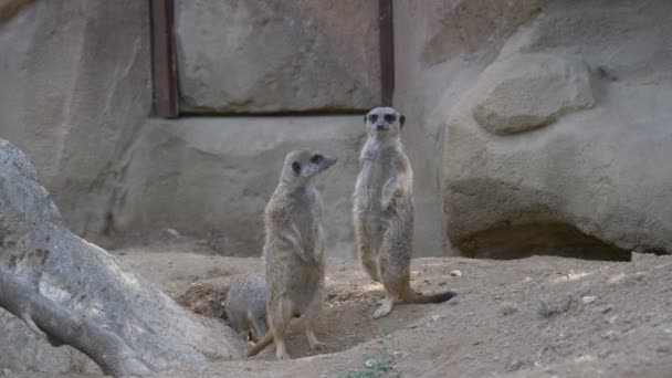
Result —
[{"label": "entire beige rock wall behind the meerkats, including the framed slab", "polygon": [[[349,1],[324,9],[307,1],[294,8],[227,1],[217,9],[206,0],[178,1],[180,54],[187,48],[195,49],[189,56],[201,56],[198,49],[224,53],[239,46],[256,56],[267,44],[260,41],[294,20],[294,36],[279,35],[272,44],[288,50],[269,48],[277,70],[254,65],[261,59],[246,59],[254,64],[243,69],[231,61],[237,76],[219,80],[240,97],[224,94],[219,103],[232,102],[217,112],[337,107],[315,96],[316,88],[351,101],[342,108],[367,108],[377,101],[370,94],[378,95],[371,81],[378,70],[374,29],[361,22],[374,12],[371,3],[357,2],[361,12],[353,21],[334,20],[358,9]],[[416,255],[503,256],[563,248],[584,253],[586,245],[607,254],[670,250],[668,2],[393,6],[395,106],[408,118],[403,140],[416,171]],[[225,7],[246,14],[252,27],[216,22],[212,15]],[[267,12],[272,17],[264,18]],[[336,151],[340,161],[348,157],[323,185],[334,214],[330,250],[351,253],[348,203],[363,136],[359,117],[154,119],[147,19],[145,2],[73,0],[35,2],[0,24],[0,137],[35,162],[67,224],[96,242],[174,227],[216,240],[224,253],[256,254],[275,164],[288,148],[318,146]],[[214,34],[206,33],[209,22],[212,30],[233,28],[220,50],[211,46],[219,43]],[[368,42],[350,43],[355,35]],[[283,55],[302,45],[311,49],[290,54],[300,63]],[[325,75],[323,60],[340,69],[325,63],[333,76]],[[180,62],[180,72],[190,75],[180,85],[188,88],[192,81],[196,91],[187,90],[188,96],[219,96],[201,84],[221,67]],[[292,69],[296,64],[300,71]],[[199,71],[206,66],[211,74]],[[264,80],[283,88],[282,101],[260,95],[260,88],[275,85]],[[209,94],[197,94],[201,90]],[[193,104],[192,112],[212,109]],[[518,237],[506,237],[510,231]],[[510,239],[518,241],[508,245]],[[519,241],[525,239],[533,242]]]}]

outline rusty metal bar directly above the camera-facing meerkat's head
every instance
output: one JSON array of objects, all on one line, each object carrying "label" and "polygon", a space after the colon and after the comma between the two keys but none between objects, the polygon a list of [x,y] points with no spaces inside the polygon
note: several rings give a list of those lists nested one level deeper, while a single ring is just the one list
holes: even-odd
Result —
[{"label": "rusty metal bar directly above the camera-facing meerkat's head", "polygon": [[378,0],[380,34],[380,97],[384,106],[392,105],[395,93],[395,27],[392,0]]}]

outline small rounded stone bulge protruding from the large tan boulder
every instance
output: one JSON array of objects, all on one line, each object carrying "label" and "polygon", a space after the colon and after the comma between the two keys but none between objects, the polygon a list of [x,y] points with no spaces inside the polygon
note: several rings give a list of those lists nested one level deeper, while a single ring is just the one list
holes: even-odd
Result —
[{"label": "small rounded stone bulge protruding from the large tan boulder", "polygon": [[550,54],[515,54],[491,64],[476,83],[473,117],[507,135],[548,125],[595,104],[588,66]]}]

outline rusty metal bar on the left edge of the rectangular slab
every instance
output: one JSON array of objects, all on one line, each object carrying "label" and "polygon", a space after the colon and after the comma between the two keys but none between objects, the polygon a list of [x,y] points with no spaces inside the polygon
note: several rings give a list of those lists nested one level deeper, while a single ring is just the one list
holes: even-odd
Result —
[{"label": "rusty metal bar on the left edge of the rectangular slab", "polygon": [[172,39],[172,0],[149,0],[151,29],[151,83],[154,114],[179,116],[175,44]]}]

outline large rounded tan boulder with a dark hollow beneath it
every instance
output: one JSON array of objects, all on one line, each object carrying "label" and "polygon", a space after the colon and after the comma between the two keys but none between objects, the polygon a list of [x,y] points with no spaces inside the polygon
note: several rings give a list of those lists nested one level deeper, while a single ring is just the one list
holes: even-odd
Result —
[{"label": "large rounded tan boulder with a dark hollow beneath it", "polygon": [[672,3],[606,4],[548,4],[444,118],[462,254],[672,252]]}]

